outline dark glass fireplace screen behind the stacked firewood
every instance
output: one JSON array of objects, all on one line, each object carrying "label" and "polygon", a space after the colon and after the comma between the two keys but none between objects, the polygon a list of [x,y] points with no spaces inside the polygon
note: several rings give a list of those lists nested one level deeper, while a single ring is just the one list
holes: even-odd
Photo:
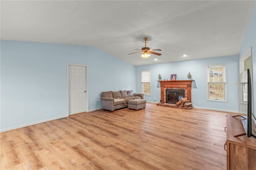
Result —
[{"label": "dark glass fireplace screen behind the stacked firewood", "polygon": [[166,89],[166,103],[176,103],[185,97],[185,89]]}]

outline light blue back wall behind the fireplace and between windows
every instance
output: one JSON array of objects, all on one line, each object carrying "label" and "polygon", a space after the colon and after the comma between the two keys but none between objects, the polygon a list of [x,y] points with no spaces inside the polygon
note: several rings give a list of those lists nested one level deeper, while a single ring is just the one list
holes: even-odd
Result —
[{"label": "light blue back wall behind the fireplace and between windows", "polygon": [[[169,79],[171,74],[177,74],[176,80],[186,80],[188,72],[191,73],[192,79],[192,103],[194,107],[202,109],[213,109],[220,111],[238,112],[238,85],[231,85],[231,82],[238,82],[238,59],[239,56],[216,57],[209,59],[198,59],[191,61],[181,61],[175,63],[164,63],[154,65],[144,65],[136,67],[136,91],[141,88],[140,71],[151,70],[152,95],[145,96],[147,101],[160,101],[160,85],[158,74],[161,74],[162,79]],[[227,102],[207,101],[206,100],[206,65],[226,64],[227,69],[227,85],[228,98]],[[201,102],[201,105],[198,103]],[[231,105],[231,108],[228,108]]]}]

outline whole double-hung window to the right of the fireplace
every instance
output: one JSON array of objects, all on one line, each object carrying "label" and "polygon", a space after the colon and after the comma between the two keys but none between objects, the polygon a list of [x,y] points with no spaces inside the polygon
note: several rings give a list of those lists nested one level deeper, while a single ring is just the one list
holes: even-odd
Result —
[{"label": "whole double-hung window to the right of the fireplace", "polygon": [[207,100],[227,101],[226,65],[207,66]]}]

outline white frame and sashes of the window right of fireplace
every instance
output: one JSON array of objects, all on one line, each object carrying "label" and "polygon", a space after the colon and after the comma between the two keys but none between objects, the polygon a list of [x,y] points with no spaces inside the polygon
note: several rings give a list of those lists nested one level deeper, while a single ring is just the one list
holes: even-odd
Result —
[{"label": "white frame and sashes of the window right of fireplace", "polygon": [[[214,68],[214,67],[223,67],[223,82],[210,82],[210,68]],[[218,64],[218,65],[206,65],[206,100],[207,101],[220,101],[220,102],[227,102],[227,97],[228,97],[228,87],[227,87],[227,71],[226,71],[226,64]],[[213,73],[214,76],[214,73]],[[219,76],[219,75],[218,75]],[[209,84],[210,83],[214,83],[214,84],[223,84],[224,85],[224,99],[211,99],[210,98],[210,88],[209,88]]]}]

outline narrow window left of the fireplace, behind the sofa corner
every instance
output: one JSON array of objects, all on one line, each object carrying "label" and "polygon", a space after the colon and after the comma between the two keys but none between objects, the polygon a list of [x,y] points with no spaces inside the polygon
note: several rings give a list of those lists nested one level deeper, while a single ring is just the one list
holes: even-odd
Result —
[{"label": "narrow window left of the fireplace, behind the sofa corner", "polygon": [[141,92],[145,95],[151,95],[151,71],[141,71]]}]

